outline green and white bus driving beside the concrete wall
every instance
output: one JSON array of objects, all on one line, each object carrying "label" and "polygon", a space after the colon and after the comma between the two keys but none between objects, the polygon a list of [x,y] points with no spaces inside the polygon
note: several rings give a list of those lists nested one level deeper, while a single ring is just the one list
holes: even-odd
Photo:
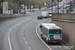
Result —
[{"label": "green and white bus driving beside the concrete wall", "polygon": [[62,28],[54,23],[41,23],[40,25],[41,37],[45,42],[61,43],[62,41]]}]

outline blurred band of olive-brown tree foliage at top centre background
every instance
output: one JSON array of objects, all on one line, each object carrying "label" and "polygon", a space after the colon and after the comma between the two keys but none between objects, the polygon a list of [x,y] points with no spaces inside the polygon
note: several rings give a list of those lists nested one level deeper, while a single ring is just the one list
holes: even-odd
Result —
[{"label": "blurred band of olive-brown tree foliage at top centre background", "polygon": [[17,5],[22,5],[22,4],[25,4],[25,5],[33,5],[34,7],[38,7],[38,6],[41,6],[41,7],[44,7],[44,1],[47,2],[47,5],[50,6],[50,3],[51,3],[51,0],[12,0],[13,3],[16,3]]}]

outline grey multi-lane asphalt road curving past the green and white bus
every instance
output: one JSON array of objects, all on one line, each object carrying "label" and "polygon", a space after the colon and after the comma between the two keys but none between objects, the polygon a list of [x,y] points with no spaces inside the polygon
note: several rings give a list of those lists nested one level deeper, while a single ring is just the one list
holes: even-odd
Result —
[{"label": "grey multi-lane asphalt road curving past the green and white bus", "polygon": [[[24,17],[1,23],[0,50],[49,50],[35,32],[37,25],[43,20],[37,20],[38,15],[41,15],[41,11],[31,12]],[[44,19],[43,22],[49,23],[51,18]],[[38,33],[40,33],[40,28],[38,28]]]}]

